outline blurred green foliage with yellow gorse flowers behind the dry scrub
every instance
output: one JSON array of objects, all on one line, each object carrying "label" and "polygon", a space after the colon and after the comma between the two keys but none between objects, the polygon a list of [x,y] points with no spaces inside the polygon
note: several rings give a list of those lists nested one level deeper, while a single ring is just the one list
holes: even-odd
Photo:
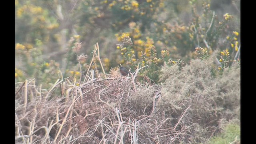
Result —
[{"label": "blurred green foliage with yellow gorse flowers behind the dry scrub", "polygon": [[240,61],[240,0],[15,0],[15,42],[16,81],[77,78],[96,42],[106,72],[148,65],[158,82],[164,63],[215,50],[218,72]]}]

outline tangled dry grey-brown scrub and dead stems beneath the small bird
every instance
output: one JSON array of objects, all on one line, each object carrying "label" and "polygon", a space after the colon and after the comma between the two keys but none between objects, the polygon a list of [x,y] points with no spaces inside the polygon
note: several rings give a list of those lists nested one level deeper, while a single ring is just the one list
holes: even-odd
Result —
[{"label": "tangled dry grey-brown scrub and dead stems beneath the small bird", "polygon": [[136,81],[141,68],[95,78],[90,67],[80,86],[69,78],[49,90],[17,83],[16,143],[205,143],[240,113],[240,67],[213,78],[211,64],[163,66],[161,85]]}]

